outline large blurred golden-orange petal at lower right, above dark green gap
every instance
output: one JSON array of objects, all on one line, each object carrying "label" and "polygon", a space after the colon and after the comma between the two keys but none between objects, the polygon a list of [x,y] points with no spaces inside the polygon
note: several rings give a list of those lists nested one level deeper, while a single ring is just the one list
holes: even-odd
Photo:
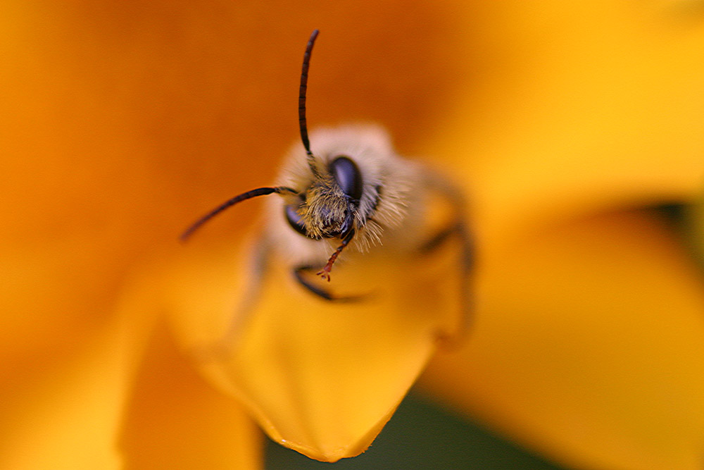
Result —
[{"label": "large blurred golden-orange petal at lower right, above dark green gap", "polygon": [[571,466],[701,468],[704,289],[660,220],[484,246],[474,336],[436,357],[427,388]]}]

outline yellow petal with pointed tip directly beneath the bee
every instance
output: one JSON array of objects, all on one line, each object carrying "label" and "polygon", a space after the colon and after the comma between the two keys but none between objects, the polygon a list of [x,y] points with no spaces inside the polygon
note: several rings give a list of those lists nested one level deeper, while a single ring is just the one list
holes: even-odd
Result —
[{"label": "yellow petal with pointed tip directly beneath the bee", "polygon": [[[225,337],[250,276],[232,248],[209,251],[177,268],[169,294],[177,334],[191,350]],[[456,292],[438,281],[452,261],[367,256],[334,273],[331,287],[369,298],[339,304],[310,295],[275,260],[249,320],[228,339],[230,356],[201,369],[277,442],[329,462],[359,454],[425,366],[437,335],[457,328]]]}]

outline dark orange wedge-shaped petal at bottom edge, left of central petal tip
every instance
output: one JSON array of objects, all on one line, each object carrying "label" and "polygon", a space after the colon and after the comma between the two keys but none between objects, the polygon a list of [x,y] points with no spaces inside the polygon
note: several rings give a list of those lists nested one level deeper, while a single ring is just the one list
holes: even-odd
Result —
[{"label": "dark orange wedge-shaped petal at bottom edge, left of central petal tip", "polygon": [[208,386],[157,328],[122,426],[130,469],[260,469],[261,434],[239,403]]}]

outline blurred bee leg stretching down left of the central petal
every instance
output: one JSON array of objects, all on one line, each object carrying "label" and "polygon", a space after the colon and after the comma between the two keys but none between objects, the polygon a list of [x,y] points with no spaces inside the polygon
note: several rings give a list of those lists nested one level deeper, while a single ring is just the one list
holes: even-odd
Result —
[{"label": "blurred bee leg stretching down left of the central petal", "polygon": [[225,361],[232,356],[241,333],[252,318],[254,304],[256,304],[256,300],[261,293],[270,257],[270,247],[266,237],[259,236],[257,240],[253,245],[246,268],[246,271],[251,273],[251,276],[246,277],[247,284],[244,287],[244,293],[239,304],[232,312],[225,332],[222,333],[220,338],[215,338],[212,342],[196,347],[191,351],[198,361],[213,363]]}]

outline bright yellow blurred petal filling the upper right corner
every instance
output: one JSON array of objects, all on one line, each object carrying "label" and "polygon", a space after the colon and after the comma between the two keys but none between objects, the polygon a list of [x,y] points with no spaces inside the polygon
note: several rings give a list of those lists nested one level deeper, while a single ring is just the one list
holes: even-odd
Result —
[{"label": "bright yellow blurred petal filling the upper right corner", "polygon": [[[697,190],[704,15],[677,21],[650,3],[484,6],[491,27],[458,51],[476,59],[463,62],[476,79],[427,145],[470,182],[482,230]],[[478,8],[467,8],[475,26]]]}]

